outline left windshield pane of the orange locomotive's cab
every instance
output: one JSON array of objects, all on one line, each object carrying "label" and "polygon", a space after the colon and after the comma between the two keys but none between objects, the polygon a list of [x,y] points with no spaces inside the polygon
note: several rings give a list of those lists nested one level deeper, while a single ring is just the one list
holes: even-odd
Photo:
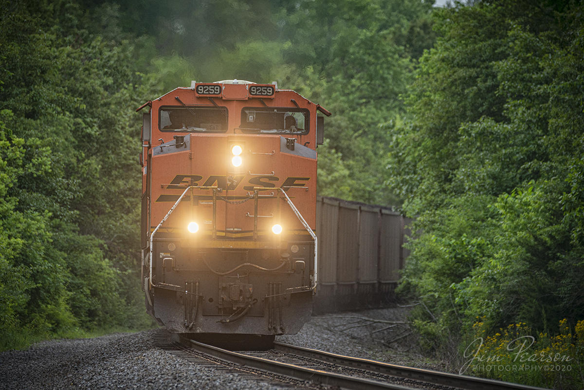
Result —
[{"label": "left windshield pane of the orange locomotive's cab", "polygon": [[162,131],[225,133],[227,107],[162,107],[158,127]]}]

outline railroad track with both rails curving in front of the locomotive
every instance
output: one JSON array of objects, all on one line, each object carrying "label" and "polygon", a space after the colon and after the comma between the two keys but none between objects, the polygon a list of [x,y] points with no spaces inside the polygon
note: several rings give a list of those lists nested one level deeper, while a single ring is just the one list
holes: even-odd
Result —
[{"label": "railroad track with both rails curving in front of the locomotive", "polygon": [[199,343],[180,335],[172,335],[172,339],[187,354],[203,358],[207,356],[206,360],[216,364],[300,386],[314,384],[318,387],[322,384],[354,390],[543,390],[492,379],[341,356],[277,342],[272,350],[242,353]]}]

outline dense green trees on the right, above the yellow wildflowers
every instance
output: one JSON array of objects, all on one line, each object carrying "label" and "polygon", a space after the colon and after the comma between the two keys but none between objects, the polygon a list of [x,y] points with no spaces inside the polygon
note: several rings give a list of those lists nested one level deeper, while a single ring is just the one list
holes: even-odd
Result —
[{"label": "dense green trees on the right, above the yellow wildflowers", "polygon": [[583,15],[547,0],[436,15],[388,163],[418,216],[401,290],[429,348],[460,352],[477,318],[552,334],[584,319]]}]

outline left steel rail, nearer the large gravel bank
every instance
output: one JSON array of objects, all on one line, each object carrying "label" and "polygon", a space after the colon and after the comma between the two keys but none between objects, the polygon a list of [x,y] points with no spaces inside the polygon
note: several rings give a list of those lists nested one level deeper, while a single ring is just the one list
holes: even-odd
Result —
[{"label": "left steel rail, nearer the large gravel bank", "polygon": [[189,346],[192,349],[219,358],[221,360],[226,360],[239,365],[245,365],[246,367],[255,368],[256,370],[271,372],[272,374],[300,379],[302,381],[318,382],[324,385],[339,386],[339,388],[350,390],[412,390],[412,388],[409,387],[371,381],[370,379],[353,378],[347,375],[333,374],[332,372],[326,372],[322,370],[312,370],[311,368],[300,367],[299,365],[281,363],[279,361],[232,352],[199,343],[194,340],[186,339],[176,333],[172,335],[172,339],[175,342],[179,342],[183,345]]}]

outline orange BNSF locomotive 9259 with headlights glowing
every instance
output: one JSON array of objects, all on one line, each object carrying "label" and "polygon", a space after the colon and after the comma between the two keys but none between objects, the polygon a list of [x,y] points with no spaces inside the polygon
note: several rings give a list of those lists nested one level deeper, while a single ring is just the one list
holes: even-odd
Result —
[{"label": "orange BNSF locomotive 9259 with headlights glowing", "polygon": [[142,288],[171,333],[297,333],[317,285],[317,152],[331,115],[277,83],[192,82],[142,127]]}]

